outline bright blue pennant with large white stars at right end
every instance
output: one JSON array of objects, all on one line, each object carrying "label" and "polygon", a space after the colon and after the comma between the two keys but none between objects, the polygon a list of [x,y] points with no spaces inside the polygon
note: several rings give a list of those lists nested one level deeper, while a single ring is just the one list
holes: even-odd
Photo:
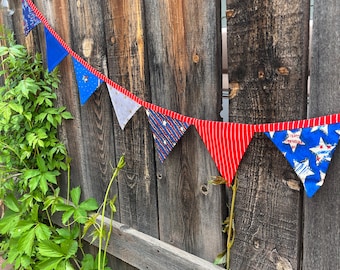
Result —
[{"label": "bright blue pennant with large white stars at right end", "polygon": [[312,197],[322,186],[339,142],[340,123],[276,132],[265,132],[284,154]]}]

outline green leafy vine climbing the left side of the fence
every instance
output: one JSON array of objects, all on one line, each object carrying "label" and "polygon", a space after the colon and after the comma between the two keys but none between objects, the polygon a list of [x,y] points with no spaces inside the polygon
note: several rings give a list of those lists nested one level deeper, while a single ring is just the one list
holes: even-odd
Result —
[{"label": "green leafy vine climbing the left side of the fence", "polygon": [[[58,127],[72,115],[55,106],[58,71],[45,70],[41,56],[28,55],[11,33],[0,35],[0,45],[1,254],[15,269],[109,269],[106,249],[94,258],[82,250],[82,239],[89,231],[108,244],[112,227],[107,231],[98,217],[109,205],[113,218],[115,197],[106,196],[98,209],[93,198],[81,201],[80,187],[68,190],[67,199],[59,195],[58,176],[70,175],[70,158]],[[65,227],[56,227],[53,215]]]}]

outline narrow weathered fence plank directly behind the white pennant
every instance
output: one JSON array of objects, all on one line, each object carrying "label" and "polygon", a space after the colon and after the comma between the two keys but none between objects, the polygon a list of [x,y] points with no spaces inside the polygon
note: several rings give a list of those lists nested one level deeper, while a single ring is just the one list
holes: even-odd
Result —
[{"label": "narrow weathered fence plank directly behind the white pennant", "polygon": [[[150,100],[143,2],[103,1],[103,19],[110,79]],[[116,153],[126,155],[118,180],[120,221],[158,238],[154,146],[145,110],[140,109],[124,131],[114,116],[114,130]]]}]

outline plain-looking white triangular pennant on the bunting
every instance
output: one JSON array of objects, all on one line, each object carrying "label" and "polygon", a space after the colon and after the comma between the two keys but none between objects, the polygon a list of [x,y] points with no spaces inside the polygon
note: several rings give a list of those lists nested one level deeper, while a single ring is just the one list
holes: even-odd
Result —
[{"label": "plain-looking white triangular pennant on the bunting", "polygon": [[129,122],[132,116],[134,116],[141,105],[109,84],[107,84],[107,89],[109,90],[109,95],[118,123],[121,129],[124,129],[127,122]]}]

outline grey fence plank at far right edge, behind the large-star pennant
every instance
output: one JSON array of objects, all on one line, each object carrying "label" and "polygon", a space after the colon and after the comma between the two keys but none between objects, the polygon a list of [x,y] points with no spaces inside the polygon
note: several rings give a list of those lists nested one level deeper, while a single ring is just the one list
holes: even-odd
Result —
[{"label": "grey fence plank at far right edge, behind the large-star pennant", "polygon": [[[310,116],[339,113],[340,5],[315,1]],[[339,148],[339,147],[338,147]],[[324,185],[304,203],[303,269],[340,269],[340,152],[337,149]]]}]

